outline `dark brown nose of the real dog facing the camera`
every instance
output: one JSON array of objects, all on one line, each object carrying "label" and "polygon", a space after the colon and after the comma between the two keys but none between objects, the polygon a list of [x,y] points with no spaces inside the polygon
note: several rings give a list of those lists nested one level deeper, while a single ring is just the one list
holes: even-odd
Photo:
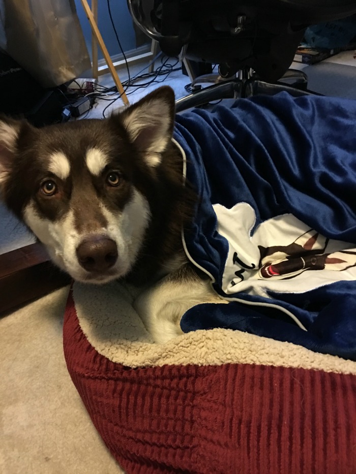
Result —
[{"label": "dark brown nose of the real dog facing the camera", "polygon": [[116,243],[107,237],[91,237],[78,246],[77,257],[88,272],[105,272],[116,263]]}]

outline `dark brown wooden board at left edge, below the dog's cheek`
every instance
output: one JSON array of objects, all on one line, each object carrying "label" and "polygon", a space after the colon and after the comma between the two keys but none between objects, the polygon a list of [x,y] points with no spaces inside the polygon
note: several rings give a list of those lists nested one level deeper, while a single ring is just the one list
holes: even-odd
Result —
[{"label": "dark brown wooden board at left edge, below the dog's cheek", "polygon": [[57,269],[40,243],[0,255],[0,313],[69,285],[71,278]]}]

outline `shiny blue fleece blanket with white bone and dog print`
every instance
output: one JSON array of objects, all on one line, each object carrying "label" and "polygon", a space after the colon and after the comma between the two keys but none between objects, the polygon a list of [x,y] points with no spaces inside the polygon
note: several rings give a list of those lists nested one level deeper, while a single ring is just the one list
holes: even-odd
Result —
[{"label": "shiny blue fleece blanket with white bone and dog print", "polygon": [[183,331],[230,328],[356,360],[356,101],[282,92],[176,117],[199,201],[187,255],[230,304]]}]

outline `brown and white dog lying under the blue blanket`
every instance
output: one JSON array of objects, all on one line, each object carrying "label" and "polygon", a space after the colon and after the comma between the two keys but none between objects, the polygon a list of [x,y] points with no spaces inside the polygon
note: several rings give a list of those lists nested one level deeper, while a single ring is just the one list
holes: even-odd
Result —
[{"label": "brown and white dog lying under the blue blanket", "polygon": [[157,343],[182,334],[192,306],[222,302],[188,260],[195,200],[172,140],[174,93],[160,87],[107,119],[34,128],[0,119],[0,193],[74,280],[125,280]]}]

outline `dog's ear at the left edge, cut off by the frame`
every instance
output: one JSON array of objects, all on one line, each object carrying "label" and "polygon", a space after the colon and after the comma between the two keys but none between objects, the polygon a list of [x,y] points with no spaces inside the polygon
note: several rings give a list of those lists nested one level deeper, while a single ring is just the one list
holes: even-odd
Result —
[{"label": "dog's ear at the left edge, cut off by the frame", "polygon": [[20,128],[20,121],[0,117],[0,192],[12,168]]}]

